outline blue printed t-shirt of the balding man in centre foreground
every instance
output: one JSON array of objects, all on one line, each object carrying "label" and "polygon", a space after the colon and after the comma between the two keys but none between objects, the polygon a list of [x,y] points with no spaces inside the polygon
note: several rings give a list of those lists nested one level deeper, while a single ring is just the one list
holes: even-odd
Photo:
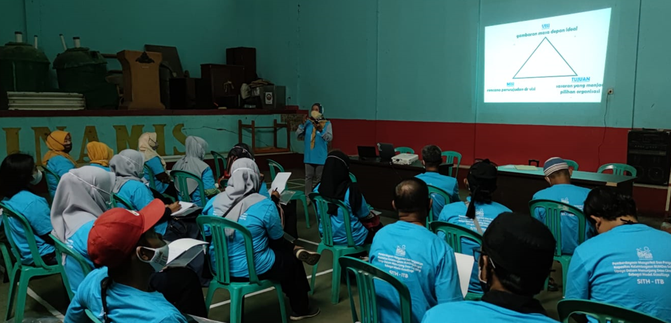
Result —
[{"label": "blue printed t-shirt of the balding man in centre foreground", "polygon": [[[397,277],[410,291],[412,322],[440,303],[463,301],[452,248],[424,226],[398,221],[375,234],[370,263]],[[375,281],[380,322],[400,322],[398,292]]]}]

